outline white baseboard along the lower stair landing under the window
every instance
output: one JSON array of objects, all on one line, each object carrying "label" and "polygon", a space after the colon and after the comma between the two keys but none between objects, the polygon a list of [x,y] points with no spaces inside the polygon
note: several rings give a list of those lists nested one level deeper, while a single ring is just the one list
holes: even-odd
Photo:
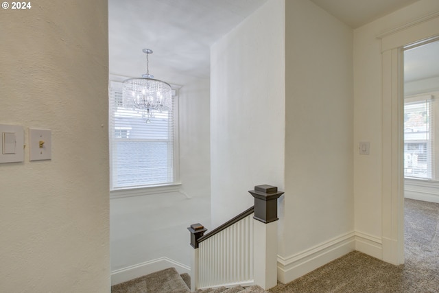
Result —
[{"label": "white baseboard along the lower stair landing under the window", "polygon": [[191,268],[185,266],[182,263],[178,263],[167,257],[161,257],[159,259],[153,259],[152,261],[145,261],[144,263],[138,263],[134,266],[127,268],[121,268],[111,272],[111,285],[116,285],[132,279],[145,276],[145,274],[151,274],[158,270],[165,270],[165,268],[174,267],[179,274],[187,272],[191,273]]}]

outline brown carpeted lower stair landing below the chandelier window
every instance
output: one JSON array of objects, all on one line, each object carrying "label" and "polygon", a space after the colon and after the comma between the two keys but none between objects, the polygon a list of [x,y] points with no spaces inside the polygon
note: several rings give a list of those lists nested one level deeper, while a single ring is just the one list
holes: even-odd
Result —
[{"label": "brown carpeted lower stair landing below the chandelier window", "polygon": [[111,293],[190,293],[180,274],[175,268],[167,268],[146,276],[113,285]]}]

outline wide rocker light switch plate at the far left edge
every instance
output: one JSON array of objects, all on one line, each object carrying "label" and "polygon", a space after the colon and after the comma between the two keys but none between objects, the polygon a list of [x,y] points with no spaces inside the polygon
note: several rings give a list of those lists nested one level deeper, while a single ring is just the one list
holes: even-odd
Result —
[{"label": "wide rocker light switch plate at the far left edge", "polygon": [[23,126],[0,124],[0,163],[24,161],[25,132]]}]

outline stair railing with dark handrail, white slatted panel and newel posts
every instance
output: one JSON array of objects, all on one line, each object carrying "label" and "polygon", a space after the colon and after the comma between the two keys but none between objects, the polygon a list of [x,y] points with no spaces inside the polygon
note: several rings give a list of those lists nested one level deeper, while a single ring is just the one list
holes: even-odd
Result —
[{"label": "stair railing with dark handrail, white slatted panel and newel posts", "polygon": [[277,284],[277,187],[258,185],[248,191],[250,207],[235,218],[207,231],[192,224],[191,291],[220,286]]}]

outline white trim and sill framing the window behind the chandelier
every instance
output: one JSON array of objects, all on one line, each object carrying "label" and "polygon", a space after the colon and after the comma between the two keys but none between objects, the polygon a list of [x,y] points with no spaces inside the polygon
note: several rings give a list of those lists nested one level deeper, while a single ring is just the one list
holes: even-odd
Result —
[{"label": "white trim and sill framing the window behind the chandelier", "polygon": [[[112,82],[123,82],[123,80],[128,79],[129,77],[110,74],[108,78],[108,99],[110,99],[110,88]],[[176,84],[171,84],[172,89],[172,97],[174,98],[174,158],[173,158],[173,172],[174,172],[174,182],[172,183],[163,183],[158,185],[150,185],[150,186],[134,186],[134,187],[112,187],[112,141],[110,139],[110,119],[111,119],[111,108],[110,104],[108,105],[108,145],[109,145],[109,175],[110,175],[110,198],[125,198],[130,196],[143,196],[148,194],[161,194],[167,192],[175,192],[180,189],[180,135],[179,135],[179,101],[178,101],[178,91],[181,86]]]}]

